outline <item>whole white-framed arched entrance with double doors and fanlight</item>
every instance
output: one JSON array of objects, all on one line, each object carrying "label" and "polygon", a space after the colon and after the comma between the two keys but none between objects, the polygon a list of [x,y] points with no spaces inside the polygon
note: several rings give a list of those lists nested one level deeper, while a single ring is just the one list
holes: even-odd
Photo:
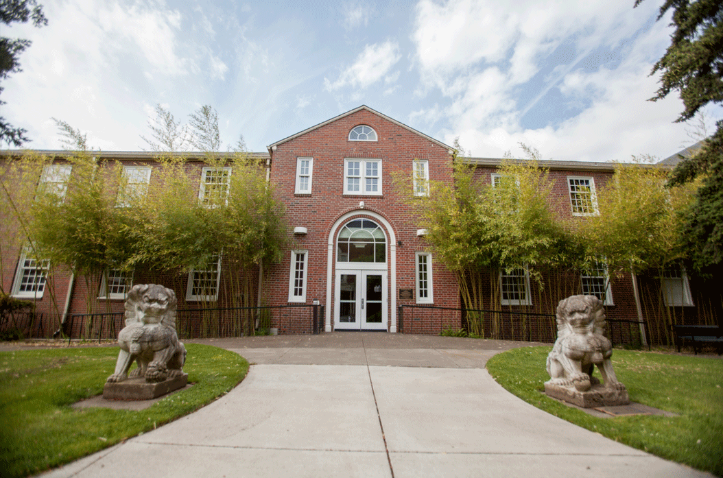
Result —
[{"label": "whole white-framed arched entrance with double doors and fanlight", "polygon": [[328,300],[328,305],[333,306],[327,312],[326,330],[332,323],[335,330],[388,330],[390,270],[394,280],[396,252],[389,227],[371,211],[348,213],[335,223],[329,236],[330,265],[332,252],[335,260],[333,272],[331,267],[328,271],[333,280],[333,302]]}]

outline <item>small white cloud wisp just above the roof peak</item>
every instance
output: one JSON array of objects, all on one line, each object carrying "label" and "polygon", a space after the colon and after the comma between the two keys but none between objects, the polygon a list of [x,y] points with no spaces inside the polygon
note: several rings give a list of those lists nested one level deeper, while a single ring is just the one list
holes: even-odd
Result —
[{"label": "small white cloud wisp just above the roof peak", "polygon": [[399,46],[392,41],[367,45],[351,67],[345,69],[335,82],[325,79],[327,90],[338,90],[345,86],[367,88],[382,80],[399,61]]}]

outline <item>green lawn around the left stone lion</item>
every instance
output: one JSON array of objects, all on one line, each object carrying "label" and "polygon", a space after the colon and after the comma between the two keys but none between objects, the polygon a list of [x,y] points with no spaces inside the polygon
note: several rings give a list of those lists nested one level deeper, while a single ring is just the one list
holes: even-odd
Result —
[{"label": "green lawn around the left stone lion", "polygon": [[228,392],[249,369],[233,352],[186,347],[184,372],[194,386],[142,411],[70,406],[103,392],[117,347],[1,352],[0,474],[35,474],[153,430]]}]

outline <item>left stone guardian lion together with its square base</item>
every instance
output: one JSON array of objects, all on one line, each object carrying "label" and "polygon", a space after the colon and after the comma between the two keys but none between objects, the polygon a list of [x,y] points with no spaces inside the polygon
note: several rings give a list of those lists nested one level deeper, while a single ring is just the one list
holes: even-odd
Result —
[{"label": "left stone guardian lion together with its square base", "polygon": [[[103,398],[150,400],[187,385],[186,348],[176,334],[176,303],[176,294],[166,287],[132,287],[125,304],[126,326],[118,334],[116,370],[106,381]],[[133,362],[138,367],[129,374]]]}]

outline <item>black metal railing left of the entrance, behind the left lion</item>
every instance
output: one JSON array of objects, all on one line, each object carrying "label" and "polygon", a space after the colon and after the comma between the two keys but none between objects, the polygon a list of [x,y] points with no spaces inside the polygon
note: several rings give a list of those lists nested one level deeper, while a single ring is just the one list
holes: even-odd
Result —
[{"label": "black metal railing left of the entrance, behind the left lion", "polygon": [[[296,333],[319,333],[323,315],[323,306],[308,304],[179,309],[176,331],[181,339],[240,337],[269,333],[272,323],[295,323]],[[124,312],[72,314],[63,324],[63,333],[69,340],[101,341],[118,338],[124,325]]]}]

